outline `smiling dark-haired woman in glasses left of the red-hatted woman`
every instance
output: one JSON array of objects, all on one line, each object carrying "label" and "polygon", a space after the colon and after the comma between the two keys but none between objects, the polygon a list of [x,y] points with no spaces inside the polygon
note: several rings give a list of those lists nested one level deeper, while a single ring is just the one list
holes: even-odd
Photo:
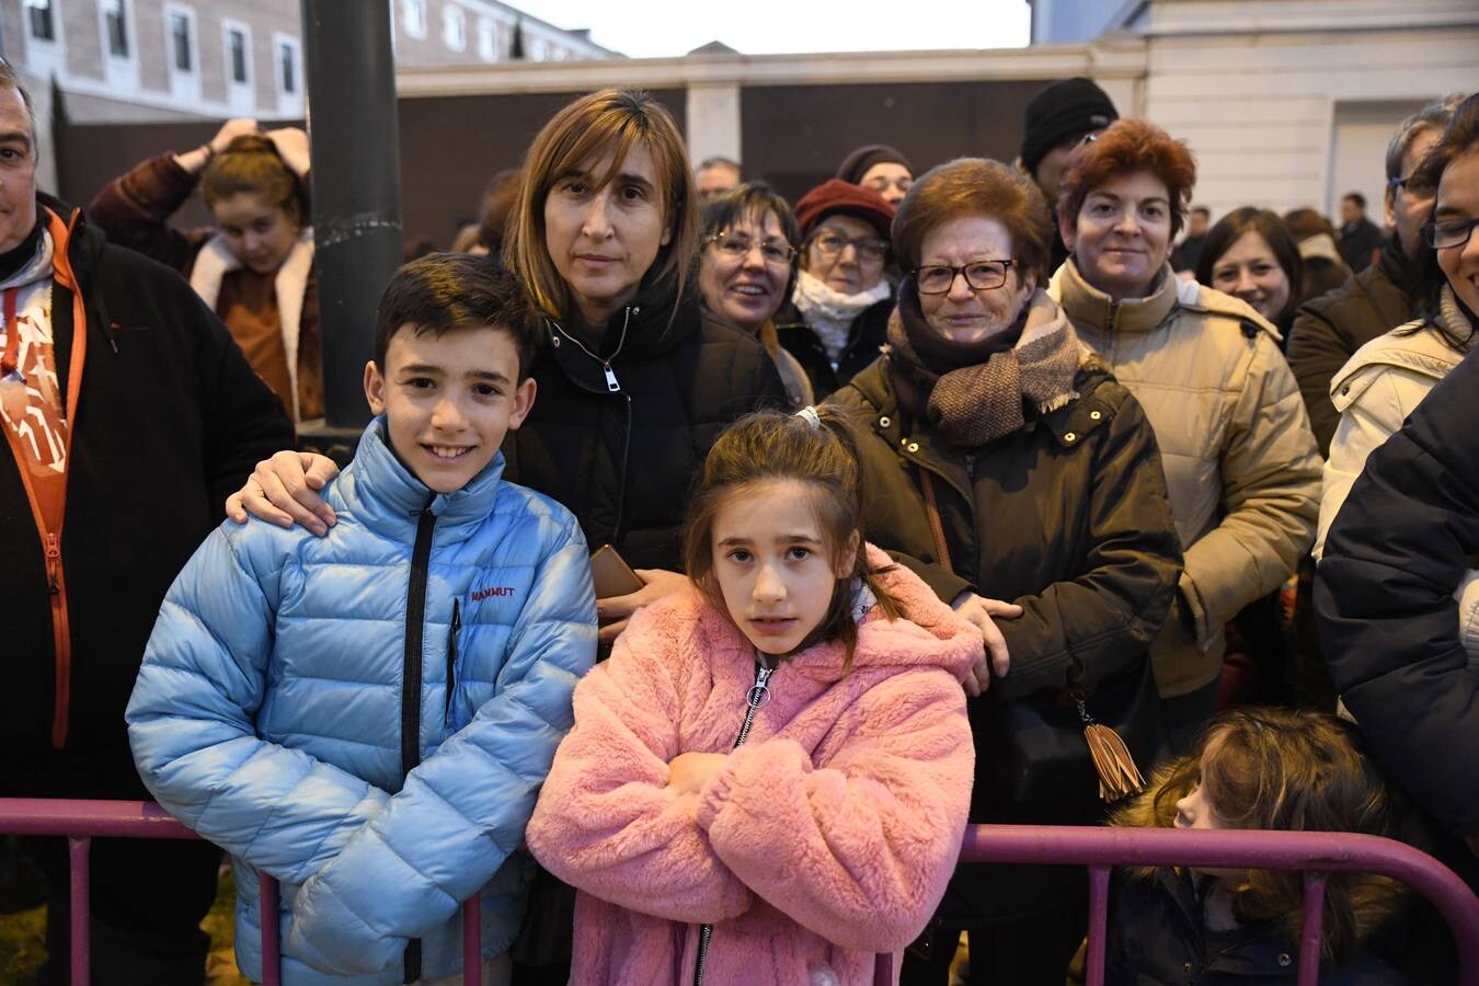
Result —
[{"label": "smiling dark-haired woman in glasses left of the red-hatted woman", "polygon": [[794,407],[813,404],[806,370],[775,333],[775,312],[796,284],[796,244],[802,241],[791,207],[765,182],[748,182],[704,205],[698,241],[704,306],[760,340]]}]

